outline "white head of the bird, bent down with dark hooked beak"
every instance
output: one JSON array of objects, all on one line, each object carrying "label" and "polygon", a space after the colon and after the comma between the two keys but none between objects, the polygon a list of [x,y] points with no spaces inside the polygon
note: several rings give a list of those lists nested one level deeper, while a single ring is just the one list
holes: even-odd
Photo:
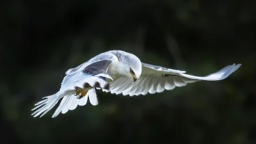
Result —
[{"label": "white head of the bird, bent down with dark hooked beak", "polygon": [[[123,52],[123,51],[121,51]],[[141,61],[134,54],[124,52],[120,56],[120,62],[122,63],[122,70],[120,72],[126,77],[131,77],[135,82],[141,75]]]}]

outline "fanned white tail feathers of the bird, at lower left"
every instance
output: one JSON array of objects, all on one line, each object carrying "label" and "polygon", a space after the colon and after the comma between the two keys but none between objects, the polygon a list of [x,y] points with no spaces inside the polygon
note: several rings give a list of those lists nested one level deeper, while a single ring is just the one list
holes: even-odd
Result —
[{"label": "fanned white tail feathers of the bird, at lower left", "polygon": [[72,90],[67,92],[58,92],[54,95],[43,97],[44,100],[37,102],[35,104],[35,108],[31,109],[31,111],[34,111],[31,115],[33,115],[34,117],[39,115],[40,117],[44,116],[45,113],[50,111],[61,98],[63,99],[61,100],[60,105],[58,106],[52,117],[58,116],[60,112],[64,114],[67,113],[68,110],[76,109],[77,105],[84,106],[87,103],[88,98],[93,106],[98,104],[95,88],[88,90],[88,93],[81,99],[77,99],[74,93],[74,90]]}]

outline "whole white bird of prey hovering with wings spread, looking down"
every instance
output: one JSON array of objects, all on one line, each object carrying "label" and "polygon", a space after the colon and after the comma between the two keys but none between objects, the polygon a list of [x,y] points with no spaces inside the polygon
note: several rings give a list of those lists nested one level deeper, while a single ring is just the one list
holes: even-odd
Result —
[{"label": "whole white bird of prey hovering with wings spread, looking down", "polygon": [[208,76],[198,77],[186,74],[183,70],[142,63],[129,52],[102,52],[76,68],[67,70],[60,90],[37,102],[35,108],[31,109],[31,115],[44,116],[59,100],[60,105],[52,118],[76,109],[77,106],[84,106],[88,100],[96,106],[99,104],[96,90],[129,96],[161,93],[197,81],[222,80],[239,67],[241,64],[234,63]]}]

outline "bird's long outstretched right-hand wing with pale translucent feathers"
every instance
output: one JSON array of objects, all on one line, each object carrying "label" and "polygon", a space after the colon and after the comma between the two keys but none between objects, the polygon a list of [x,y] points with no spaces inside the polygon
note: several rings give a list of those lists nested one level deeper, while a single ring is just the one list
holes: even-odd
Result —
[{"label": "bird's long outstretched right-hand wing with pale translucent feathers", "polygon": [[228,65],[214,74],[205,77],[191,76],[185,74],[185,71],[173,70],[159,66],[142,63],[141,77],[134,83],[127,77],[119,77],[110,83],[109,91],[111,93],[123,95],[146,95],[147,93],[160,93],[164,90],[173,90],[173,88],[186,86],[188,83],[196,81],[218,81],[225,79],[239,68],[241,64]]}]

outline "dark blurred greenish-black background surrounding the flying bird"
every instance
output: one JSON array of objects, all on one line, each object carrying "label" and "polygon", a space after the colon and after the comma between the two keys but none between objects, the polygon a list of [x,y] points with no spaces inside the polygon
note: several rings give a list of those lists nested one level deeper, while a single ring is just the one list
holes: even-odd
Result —
[{"label": "dark blurred greenish-black background surrounding the flying bird", "polygon": [[[256,143],[256,1],[1,1],[1,143]],[[154,95],[33,118],[68,68],[109,50],[204,76]]]}]

